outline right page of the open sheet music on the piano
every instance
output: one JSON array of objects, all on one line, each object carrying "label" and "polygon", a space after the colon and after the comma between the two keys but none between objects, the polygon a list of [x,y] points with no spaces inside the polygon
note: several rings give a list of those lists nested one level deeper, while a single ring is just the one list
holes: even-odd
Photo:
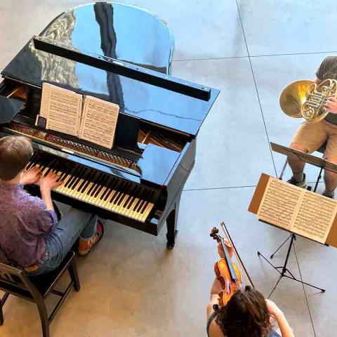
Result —
[{"label": "right page of the open sheet music on the piano", "polygon": [[86,96],[79,138],[111,149],[118,114],[119,105]]}]

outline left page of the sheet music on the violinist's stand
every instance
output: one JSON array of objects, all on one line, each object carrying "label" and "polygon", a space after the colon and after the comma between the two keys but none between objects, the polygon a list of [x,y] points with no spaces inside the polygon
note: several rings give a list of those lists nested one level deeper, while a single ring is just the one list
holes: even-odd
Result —
[{"label": "left page of the sheet music on the violinist's stand", "polygon": [[305,193],[305,190],[294,187],[270,177],[256,214],[258,218],[290,230],[298,211],[298,202]]}]

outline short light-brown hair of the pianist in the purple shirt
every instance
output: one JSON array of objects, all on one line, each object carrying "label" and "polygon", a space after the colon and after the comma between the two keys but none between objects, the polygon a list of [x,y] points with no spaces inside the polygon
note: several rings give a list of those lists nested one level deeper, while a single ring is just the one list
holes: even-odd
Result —
[{"label": "short light-brown hair of the pianist in the purple shirt", "polygon": [[23,136],[0,138],[0,179],[11,180],[20,173],[32,157],[31,141]]}]

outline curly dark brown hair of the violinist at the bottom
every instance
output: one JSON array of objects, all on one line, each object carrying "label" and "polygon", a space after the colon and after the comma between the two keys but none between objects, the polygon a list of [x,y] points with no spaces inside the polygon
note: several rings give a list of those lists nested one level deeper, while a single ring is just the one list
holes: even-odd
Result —
[{"label": "curly dark brown hair of the violinist at the bottom", "polygon": [[216,323],[226,337],[266,337],[272,329],[265,298],[251,286],[237,290],[217,310]]}]

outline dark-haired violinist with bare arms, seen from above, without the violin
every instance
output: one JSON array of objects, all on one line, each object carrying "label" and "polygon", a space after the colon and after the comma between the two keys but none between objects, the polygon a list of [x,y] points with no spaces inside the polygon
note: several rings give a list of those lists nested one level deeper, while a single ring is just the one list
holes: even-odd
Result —
[{"label": "dark-haired violinist with bare arms, seen from above, without the violin", "polygon": [[[232,258],[233,249],[225,240],[226,249]],[[220,258],[225,258],[223,246],[218,244]],[[260,291],[251,286],[238,289],[223,306],[218,305],[218,293],[222,286],[216,277],[211,288],[211,301],[207,306],[207,333],[209,337],[279,337],[272,330],[270,318],[275,317],[282,337],[293,337],[283,312],[271,300],[266,300]]]}]

